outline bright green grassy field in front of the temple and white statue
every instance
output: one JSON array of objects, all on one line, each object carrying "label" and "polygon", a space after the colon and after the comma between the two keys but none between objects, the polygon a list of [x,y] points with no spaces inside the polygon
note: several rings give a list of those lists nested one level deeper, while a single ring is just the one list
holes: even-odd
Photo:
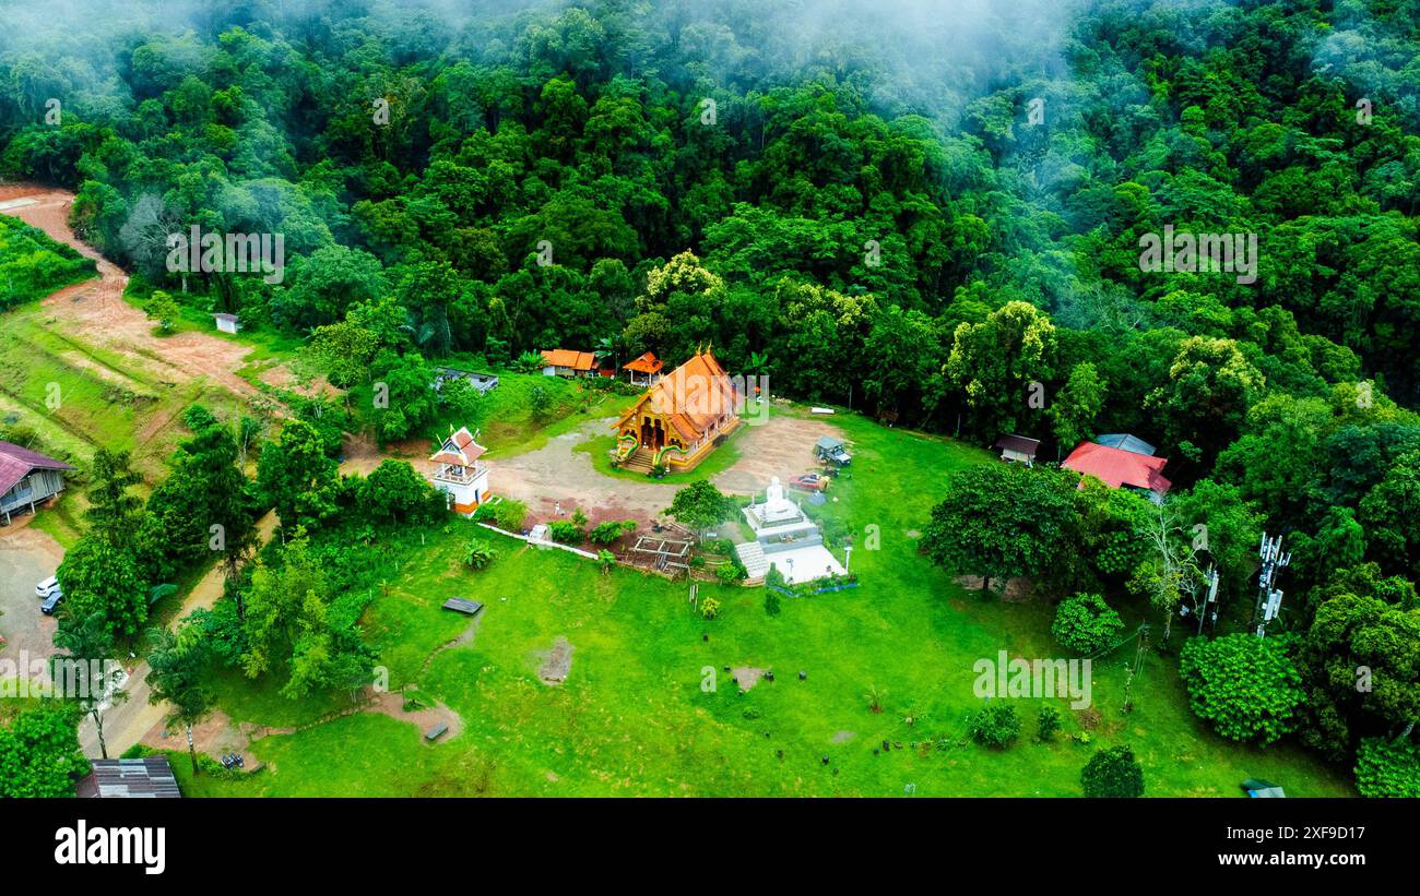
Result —
[{"label": "bright green grassy field in front of the temple and white statue", "polygon": [[[1241,747],[1187,710],[1172,658],[1149,654],[1132,713],[1120,709],[1126,645],[1096,662],[1095,713],[1065,700],[1065,729],[1032,743],[1038,700],[1020,700],[1022,737],[995,751],[970,743],[978,706],[973,663],[1055,656],[1049,607],[983,601],[917,556],[914,534],[943,476],[984,452],[849,415],[855,474],[826,505],[861,544],[862,586],[764,610],[764,590],[701,586],[723,601],[703,621],[684,583],[496,539],[491,567],[469,573],[459,550],[471,525],[400,533],[382,546],[369,584],[366,634],[390,686],[459,713],[456,737],[429,746],[415,724],[356,713],[317,723],[346,698],[290,702],[267,682],[219,676],[222,707],[239,720],[297,729],[256,741],[267,767],[240,780],[193,778],[192,795],[1078,795],[1079,770],[1099,746],[1129,743],[1150,795],[1241,795],[1264,777],[1289,795],[1352,795],[1348,775],[1291,746]],[[869,526],[880,547],[869,550]],[[491,537],[491,536],[490,536]],[[469,621],[439,610],[450,595],[486,604]],[[1135,621],[1135,620],[1130,620]],[[574,646],[562,685],[545,685],[540,656]],[[772,669],[747,693],[726,666]],[[799,681],[798,672],[807,673]],[[714,689],[703,682],[713,673]],[[882,712],[868,693],[880,695]],[[910,722],[909,722],[910,720]],[[1091,743],[1071,736],[1089,732]],[[888,741],[886,751],[882,750]],[[826,764],[824,760],[828,760]]]}]

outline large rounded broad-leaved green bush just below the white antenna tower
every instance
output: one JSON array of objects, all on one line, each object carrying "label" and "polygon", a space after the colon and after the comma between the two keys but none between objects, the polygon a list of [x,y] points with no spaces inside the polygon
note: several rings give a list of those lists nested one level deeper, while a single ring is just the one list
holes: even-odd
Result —
[{"label": "large rounded broad-leaved green bush just below the white antenna tower", "polygon": [[1285,638],[1250,634],[1189,641],[1179,673],[1194,715],[1233,740],[1268,744],[1291,732],[1304,693],[1287,648]]}]

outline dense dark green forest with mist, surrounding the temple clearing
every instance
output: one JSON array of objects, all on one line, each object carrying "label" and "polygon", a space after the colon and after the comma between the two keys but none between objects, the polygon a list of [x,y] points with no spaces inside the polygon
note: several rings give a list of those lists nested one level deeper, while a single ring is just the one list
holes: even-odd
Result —
[{"label": "dense dark green forest with mist, surrounding the temple clearing", "polygon": [[[0,0],[41,16],[23,6]],[[701,345],[777,394],[978,445],[1018,432],[1048,461],[1133,432],[1170,458],[1167,513],[1042,474],[1011,492],[1039,509],[1022,525],[1068,534],[1000,571],[1162,594],[1170,615],[1183,573],[1150,566],[1147,533],[1201,523],[1220,544],[1218,634],[1238,632],[1257,543],[1282,534],[1279,646],[1220,638],[1216,655],[1184,648],[1183,669],[1284,663],[1285,719],[1220,717],[1203,686],[1198,715],[1238,740],[1359,756],[1362,793],[1414,795],[1420,3],[888,7],[257,0],[178,24],[162,3],[34,21],[0,35],[0,173],[72,189],[72,224],[135,293],[307,336],[337,386],[389,383],[385,438],[427,432],[429,364],[456,353],[679,363]],[[165,238],[193,225],[283,234],[284,276],[172,271]],[[1140,248],[1172,231],[1255,237],[1255,276],[1145,269]],[[375,508],[359,483],[301,491],[334,475],[341,413],[288,425],[250,486],[155,493],[145,525],[122,476],[98,475],[119,483],[118,522],[67,563],[114,569],[138,532],[121,569],[166,580],[207,537],[173,534],[185,502],[231,489],[222,519],[241,537],[263,502],[293,532],[341,502]],[[240,478],[231,434],[195,428],[190,458],[216,451]],[[954,482],[1007,493],[1004,475]],[[388,516],[422,519],[420,483],[396,485]],[[943,506],[933,525],[953,512],[990,509]],[[300,553],[256,574],[314,566]],[[250,571],[241,587],[280,591]],[[352,663],[312,682],[368,665],[331,648],[352,625],[312,635]]]}]

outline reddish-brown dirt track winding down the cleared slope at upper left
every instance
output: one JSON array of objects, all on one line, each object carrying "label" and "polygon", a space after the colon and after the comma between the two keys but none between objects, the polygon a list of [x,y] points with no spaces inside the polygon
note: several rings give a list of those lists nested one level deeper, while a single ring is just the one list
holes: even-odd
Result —
[{"label": "reddish-brown dirt track winding down the cleared slope at upper left", "polygon": [[70,230],[72,193],[37,184],[0,186],[0,201],[16,198],[31,203],[7,208],[4,214],[43,230],[98,264],[98,281],[67,286],[41,302],[41,308],[62,320],[70,333],[84,342],[132,357],[138,366],[163,383],[206,379],[244,398],[260,394],[256,387],[237,376],[250,347],[200,332],[153,336],[152,320],[124,301],[128,274]]}]

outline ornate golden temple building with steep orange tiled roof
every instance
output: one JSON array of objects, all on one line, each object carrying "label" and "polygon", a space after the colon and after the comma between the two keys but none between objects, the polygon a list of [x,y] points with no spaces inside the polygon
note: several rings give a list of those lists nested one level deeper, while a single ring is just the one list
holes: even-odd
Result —
[{"label": "ornate golden temple building with steep orange tiled roof", "polygon": [[615,457],[630,469],[692,469],[740,425],[738,403],[720,362],[709,349],[697,350],[616,421]]}]

